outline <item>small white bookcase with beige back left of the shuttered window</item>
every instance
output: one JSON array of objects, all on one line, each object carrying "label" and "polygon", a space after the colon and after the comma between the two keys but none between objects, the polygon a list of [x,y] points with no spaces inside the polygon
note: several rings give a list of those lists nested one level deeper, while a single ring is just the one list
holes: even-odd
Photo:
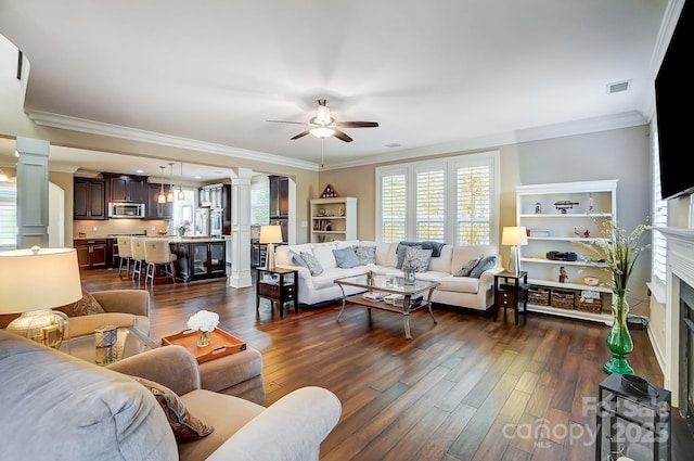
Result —
[{"label": "small white bookcase with beige back left of the shuttered window", "polygon": [[311,200],[311,243],[357,239],[357,197]]}]

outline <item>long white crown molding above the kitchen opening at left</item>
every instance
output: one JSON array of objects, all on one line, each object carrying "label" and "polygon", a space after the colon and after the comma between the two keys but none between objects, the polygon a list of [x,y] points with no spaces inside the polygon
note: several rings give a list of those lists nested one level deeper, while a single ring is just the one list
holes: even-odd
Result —
[{"label": "long white crown molding above the kitchen opening at left", "polygon": [[152,144],[168,145],[171,148],[188,149],[198,152],[224,155],[228,157],[250,159],[255,162],[272,163],[293,168],[318,171],[319,166],[294,158],[262,152],[246,151],[243,149],[230,148],[228,145],[211,142],[197,141],[194,139],[180,138],[176,136],[162,135],[153,131],[145,131],[136,128],[128,128],[118,125],[104,124],[101,121],[87,120],[85,118],[70,117],[61,114],[53,114],[43,111],[27,110],[27,115],[34,123],[51,128],[60,128],[70,131],[88,132],[91,135],[107,136],[112,138],[128,139],[131,141],[147,142]]}]

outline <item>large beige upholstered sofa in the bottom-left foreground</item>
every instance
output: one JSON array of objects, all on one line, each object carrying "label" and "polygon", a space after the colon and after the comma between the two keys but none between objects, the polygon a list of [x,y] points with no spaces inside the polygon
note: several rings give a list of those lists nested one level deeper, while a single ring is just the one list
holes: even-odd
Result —
[{"label": "large beige upholstered sofa in the bottom-left foreground", "polygon": [[[268,408],[201,388],[181,346],[100,368],[0,331],[3,460],[318,460],[342,405],[321,387],[296,389]],[[180,396],[211,434],[177,443],[163,408],[131,376]]]}]

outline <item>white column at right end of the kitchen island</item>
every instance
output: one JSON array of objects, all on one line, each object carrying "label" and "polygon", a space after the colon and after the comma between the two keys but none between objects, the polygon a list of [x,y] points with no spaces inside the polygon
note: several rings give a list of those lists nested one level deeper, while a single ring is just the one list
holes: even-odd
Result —
[{"label": "white column at right end of the kitchen island", "polygon": [[250,178],[253,170],[231,171],[231,277],[229,286],[252,286],[250,278]]}]

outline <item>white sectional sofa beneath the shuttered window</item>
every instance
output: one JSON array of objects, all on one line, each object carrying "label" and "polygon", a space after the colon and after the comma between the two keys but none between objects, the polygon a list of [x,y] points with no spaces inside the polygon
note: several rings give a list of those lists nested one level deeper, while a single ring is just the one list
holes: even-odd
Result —
[{"label": "white sectional sofa beneath the shuttered window", "polygon": [[[375,264],[359,265],[351,268],[339,267],[333,249],[347,246],[375,247]],[[275,265],[281,268],[298,270],[299,304],[316,307],[340,299],[343,292],[333,281],[339,277],[364,273],[371,268],[375,273],[395,273],[402,277],[402,270],[397,269],[399,243],[377,243],[373,241],[338,241],[329,243],[304,243],[298,245],[283,245],[275,249]],[[494,245],[453,246],[442,245],[440,254],[432,257],[426,271],[416,272],[415,277],[425,280],[436,280],[440,284],[434,291],[432,300],[453,307],[462,307],[486,311],[493,305],[494,273],[501,272],[501,257]],[[301,252],[310,253],[319,261],[322,273],[311,276],[311,271],[293,261],[294,255]],[[436,254],[436,253],[435,253]],[[401,256],[402,257],[402,256]],[[481,272],[479,278],[459,277],[455,273],[475,257],[494,257],[493,267]],[[345,286],[346,293],[361,292],[357,287]]]}]

